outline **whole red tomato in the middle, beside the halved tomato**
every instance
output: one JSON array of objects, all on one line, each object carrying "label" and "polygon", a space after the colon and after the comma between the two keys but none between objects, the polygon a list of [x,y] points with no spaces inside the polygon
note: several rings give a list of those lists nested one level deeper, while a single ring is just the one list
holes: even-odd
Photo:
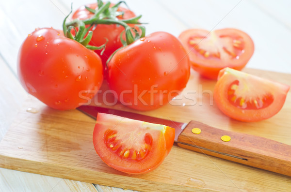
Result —
[{"label": "whole red tomato in the middle, beside the halved tomato", "polygon": [[137,110],[161,107],[186,87],[190,62],[179,40],[155,32],[114,54],[108,82],[118,100]]}]

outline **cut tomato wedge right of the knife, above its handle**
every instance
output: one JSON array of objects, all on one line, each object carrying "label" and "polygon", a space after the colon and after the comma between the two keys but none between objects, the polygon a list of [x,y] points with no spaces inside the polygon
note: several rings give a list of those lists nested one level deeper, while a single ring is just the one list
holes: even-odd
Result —
[{"label": "cut tomato wedge right of the knife, above its handle", "polygon": [[259,121],[282,108],[290,86],[226,68],[214,88],[218,108],[230,118]]}]

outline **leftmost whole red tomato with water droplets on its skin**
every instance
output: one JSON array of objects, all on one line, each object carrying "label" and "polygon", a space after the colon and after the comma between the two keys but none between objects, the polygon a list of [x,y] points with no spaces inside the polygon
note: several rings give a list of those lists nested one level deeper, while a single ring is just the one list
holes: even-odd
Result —
[{"label": "leftmost whole red tomato with water droplets on its skin", "polygon": [[102,84],[100,57],[60,30],[36,29],[20,47],[18,76],[23,88],[52,108],[74,109]]}]

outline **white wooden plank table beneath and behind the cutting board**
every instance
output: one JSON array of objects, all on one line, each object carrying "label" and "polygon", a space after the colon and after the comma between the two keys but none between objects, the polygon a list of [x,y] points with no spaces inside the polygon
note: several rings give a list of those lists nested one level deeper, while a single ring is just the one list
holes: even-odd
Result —
[{"label": "white wooden plank table beneath and behind the cutting board", "polygon": [[[20,44],[36,27],[61,29],[70,3],[78,0],[0,0],[0,140],[27,97],[16,75]],[[113,0],[112,2],[117,2]],[[289,0],[127,0],[129,8],[149,23],[147,34],[168,31],[175,36],[190,28],[237,28],[254,40],[247,67],[291,74],[291,1]],[[107,186],[0,168],[3,192],[109,192]]]}]

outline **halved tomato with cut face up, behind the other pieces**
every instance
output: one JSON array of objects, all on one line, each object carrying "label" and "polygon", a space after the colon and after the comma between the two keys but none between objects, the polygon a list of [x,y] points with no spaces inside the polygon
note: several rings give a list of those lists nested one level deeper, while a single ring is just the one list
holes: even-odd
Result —
[{"label": "halved tomato with cut face up, behind the other pieces", "polygon": [[241,30],[185,30],[179,39],[187,50],[192,67],[202,76],[217,79],[225,67],[241,70],[254,53],[254,43]]}]

